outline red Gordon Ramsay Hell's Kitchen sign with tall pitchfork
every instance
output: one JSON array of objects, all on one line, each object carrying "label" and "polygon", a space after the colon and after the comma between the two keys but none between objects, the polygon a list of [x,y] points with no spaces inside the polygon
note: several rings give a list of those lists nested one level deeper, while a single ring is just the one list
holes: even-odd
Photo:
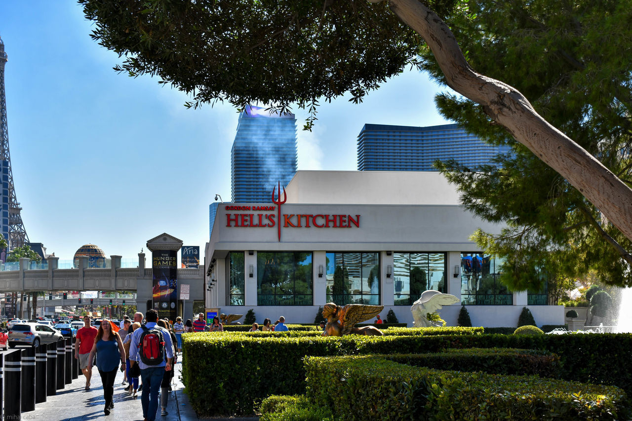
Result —
[{"label": "red Gordon Ramsay Hell's Kitchen sign with tall pitchfork", "polygon": [[275,197],[276,187],[272,190],[272,203],[276,206],[226,205],[224,210],[227,211],[245,211],[244,213],[226,212],[226,226],[228,228],[274,228],[276,226],[279,241],[281,241],[281,226],[283,228],[360,228],[360,215],[282,214],[281,205],[287,201],[288,197],[283,187],[283,198],[281,198],[281,183],[278,188],[277,197]]}]

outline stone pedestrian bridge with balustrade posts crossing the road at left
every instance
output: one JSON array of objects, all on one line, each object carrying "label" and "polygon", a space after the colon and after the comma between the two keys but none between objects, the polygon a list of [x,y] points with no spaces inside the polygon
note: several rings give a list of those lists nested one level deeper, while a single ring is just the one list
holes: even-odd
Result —
[{"label": "stone pedestrian bridge with balustrade posts crossing the road at left", "polygon": [[[145,267],[145,253],[138,254],[138,267],[121,267],[121,256],[112,255],[111,267],[88,268],[88,257],[78,257],[75,269],[58,269],[59,257],[48,257],[48,269],[28,269],[30,259],[20,259],[19,271],[0,272],[0,293],[16,291],[138,291],[151,298],[152,269]],[[190,284],[204,291],[204,267],[178,269],[178,290]],[[142,291],[142,293],[141,293]],[[140,297],[139,297],[140,298]]]}]

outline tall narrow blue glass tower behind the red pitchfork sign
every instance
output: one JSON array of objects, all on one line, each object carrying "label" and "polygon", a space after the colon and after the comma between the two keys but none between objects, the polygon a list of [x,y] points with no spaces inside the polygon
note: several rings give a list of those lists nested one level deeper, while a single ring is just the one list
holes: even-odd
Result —
[{"label": "tall narrow blue glass tower behind the red pitchfork sign", "polygon": [[234,203],[272,202],[272,188],[296,173],[296,118],[247,106],[231,150]]}]

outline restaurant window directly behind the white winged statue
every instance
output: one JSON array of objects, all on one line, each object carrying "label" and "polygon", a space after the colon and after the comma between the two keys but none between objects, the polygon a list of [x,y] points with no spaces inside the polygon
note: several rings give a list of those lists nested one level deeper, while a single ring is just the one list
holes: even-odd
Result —
[{"label": "restaurant window directly behind the white winged statue", "polygon": [[393,253],[395,305],[412,305],[423,291],[446,292],[446,253]]}]

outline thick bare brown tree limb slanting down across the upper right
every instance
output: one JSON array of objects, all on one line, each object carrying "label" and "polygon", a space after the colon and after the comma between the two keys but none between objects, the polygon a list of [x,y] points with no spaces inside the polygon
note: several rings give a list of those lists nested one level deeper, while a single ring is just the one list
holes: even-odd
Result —
[{"label": "thick bare brown tree limb slanting down across the upper right", "polygon": [[485,113],[566,178],[632,240],[632,190],[623,181],[536,113],[518,90],[476,73],[450,28],[427,6],[417,0],[390,0],[389,6],[426,41],[449,87],[482,105]]}]

